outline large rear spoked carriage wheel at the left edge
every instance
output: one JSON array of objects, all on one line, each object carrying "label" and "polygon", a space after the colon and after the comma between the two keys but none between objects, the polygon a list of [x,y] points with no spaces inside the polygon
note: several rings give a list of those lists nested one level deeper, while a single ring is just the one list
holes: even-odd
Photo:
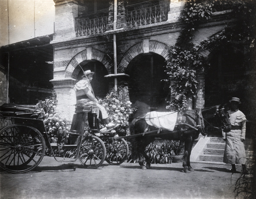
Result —
[{"label": "large rear spoked carriage wheel at the left edge", "polygon": [[37,129],[12,124],[0,130],[0,167],[10,173],[25,173],[43,159],[45,141]]}]

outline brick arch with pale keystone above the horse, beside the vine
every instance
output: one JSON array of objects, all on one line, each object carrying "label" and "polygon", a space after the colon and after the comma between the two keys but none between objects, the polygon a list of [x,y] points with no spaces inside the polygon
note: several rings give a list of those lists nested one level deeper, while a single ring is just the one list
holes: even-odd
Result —
[{"label": "brick arch with pale keystone above the horse, beside the vine", "polygon": [[168,58],[168,49],[164,43],[160,43],[158,41],[153,41],[149,39],[144,39],[142,42],[135,44],[127,52],[123,55],[119,65],[117,72],[122,73],[125,71],[128,64],[131,62],[133,58],[142,53],[154,52],[158,55],[161,55],[163,58],[167,60]]}]

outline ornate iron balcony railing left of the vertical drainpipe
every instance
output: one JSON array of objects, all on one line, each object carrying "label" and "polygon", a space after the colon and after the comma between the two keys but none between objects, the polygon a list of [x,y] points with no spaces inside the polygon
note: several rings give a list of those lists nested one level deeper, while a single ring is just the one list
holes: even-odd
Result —
[{"label": "ornate iron balcony railing left of the vertical drainpipe", "polygon": [[99,13],[76,18],[76,37],[106,32],[108,13]]}]

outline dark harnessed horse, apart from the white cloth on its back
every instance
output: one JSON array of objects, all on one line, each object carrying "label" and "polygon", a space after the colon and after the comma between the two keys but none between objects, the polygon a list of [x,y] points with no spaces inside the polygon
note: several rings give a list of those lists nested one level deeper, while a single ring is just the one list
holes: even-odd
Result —
[{"label": "dark harnessed horse, apart from the white cloth on its back", "polygon": [[[139,110],[138,107],[138,111]],[[168,115],[166,115],[166,117],[168,117]],[[145,119],[143,119],[143,115],[134,115],[133,118],[131,123],[131,135],[137,134],[135,136],[135,147],[137,147],[139,164],[143,169],[150,168],[151,160],[145,153],[145,147],[154,141],[155,138],[184,141],[183,167],[185,173],[190,173],[190,171],[194,171],[190,165],[192,145],[194,140],[198,138],[199,133],[206,136],[206,127],[221,128],[224,132],[231,130],[229,115],[225,111],[224,106],[221,105],[204,108],[202,110],[180,111],[173,131],[148,125]],[[221,124],[222,127],[219,128],[218,126],[221,126]],[[138,134],[140,134],[140,136]],[[145,157],[146,166],[143,164],[143,156]]]}]

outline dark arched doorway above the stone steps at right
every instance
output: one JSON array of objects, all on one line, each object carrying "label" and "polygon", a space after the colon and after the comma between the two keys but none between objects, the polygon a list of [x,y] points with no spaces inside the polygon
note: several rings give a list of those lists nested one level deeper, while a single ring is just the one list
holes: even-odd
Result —
[{"label": "dark arched doorway above the stone steps at right", "polygon": [[[231,48],[214,52],[210,64],[205,77],[205,107],[217,104],[229,106],[229,100],[237,97],[242,101],[240,108],[243,111],[244,91],[247,85],[243,54]],[[208,136],[221,137],[222,132],[210,129]]]}]

